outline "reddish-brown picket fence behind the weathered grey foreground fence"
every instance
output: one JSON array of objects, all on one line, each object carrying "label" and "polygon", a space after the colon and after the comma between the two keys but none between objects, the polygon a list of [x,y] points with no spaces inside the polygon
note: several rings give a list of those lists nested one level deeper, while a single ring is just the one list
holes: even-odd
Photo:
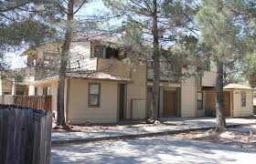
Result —
[{"label": "reddish-brown picket fence behind the weathered grey foreground fence", "polygon": [[[2,102],[1,102],[2,101]],[[51,111],[51,96],[5,96],[1,104]]]}]

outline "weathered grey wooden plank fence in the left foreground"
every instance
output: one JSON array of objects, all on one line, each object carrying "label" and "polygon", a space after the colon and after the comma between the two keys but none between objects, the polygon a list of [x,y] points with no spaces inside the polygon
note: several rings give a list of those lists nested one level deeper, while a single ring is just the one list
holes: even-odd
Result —
[{"label": "weathered grey wooden plank fence in the left foreground", "polygon": [[0,105],[0,163],[49,164],[51,112]]}]

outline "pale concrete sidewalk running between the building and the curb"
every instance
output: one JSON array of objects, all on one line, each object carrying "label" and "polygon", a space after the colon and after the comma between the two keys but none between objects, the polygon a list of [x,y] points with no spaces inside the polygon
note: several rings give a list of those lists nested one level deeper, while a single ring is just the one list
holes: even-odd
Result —
[{"label": "pale concrete sidewalk running between the building and the curb", "polygon": [[[108,139],[142,138],[176,134],[186,131],[215,128],[216,118],[162,118],[163,124],[137,124],[125,126],[88,127],[80,132],[52,132],[52,146]],[[255,118],[226,118],[231,127],[256,124]]]}]

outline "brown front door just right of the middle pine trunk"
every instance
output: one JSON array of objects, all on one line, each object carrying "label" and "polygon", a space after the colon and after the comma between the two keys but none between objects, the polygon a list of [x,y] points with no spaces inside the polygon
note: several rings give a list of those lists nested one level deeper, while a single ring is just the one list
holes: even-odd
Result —
[{"label": "brown front door just right of the middle pine trunk", "polygon": [[176,117],[176,91],[164,90],[163,116]]}]

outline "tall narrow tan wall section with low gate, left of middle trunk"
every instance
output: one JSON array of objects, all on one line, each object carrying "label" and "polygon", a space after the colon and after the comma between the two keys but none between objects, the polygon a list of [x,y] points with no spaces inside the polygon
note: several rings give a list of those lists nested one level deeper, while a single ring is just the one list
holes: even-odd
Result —
[{"label": "tall narrow tan wall section with low gate, left of middle trunk", "polygon": [[133,83],[127,85],[127,110],[125,118],[145,118],[146,66],[133,67],[131,79]]}]

